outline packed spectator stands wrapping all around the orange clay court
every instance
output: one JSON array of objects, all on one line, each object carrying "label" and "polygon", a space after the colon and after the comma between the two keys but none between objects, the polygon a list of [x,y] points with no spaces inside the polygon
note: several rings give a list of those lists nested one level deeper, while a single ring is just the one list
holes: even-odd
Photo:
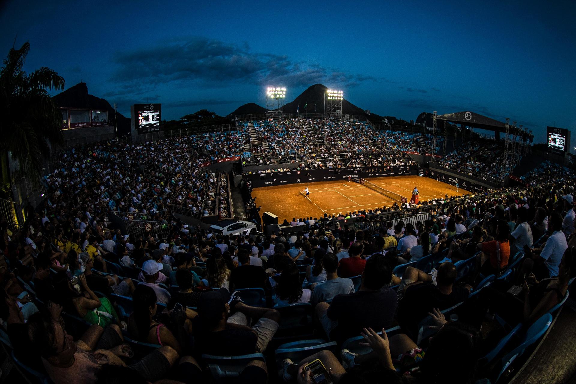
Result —
[{"label": "packed spectator stands wrapping all around the orange clay court", "polygon": [[271,233],[258,218],[236,234],[223,228],[247,222],[232,207],[241,172],[209,167],[416,165],[410,154],[443,146],[366,121],[285,118],[60,151],[26,224],[0,223],[5,343],[55,383],[173,378],[181,356],[177,374],[195,382],[309,383],[302,366],[316,359],[342,384],[505,382],[576,277],[573,170],[544,161],[504,187],[502,140],[471,136],[437,165],[498,187],[310,212]]}]

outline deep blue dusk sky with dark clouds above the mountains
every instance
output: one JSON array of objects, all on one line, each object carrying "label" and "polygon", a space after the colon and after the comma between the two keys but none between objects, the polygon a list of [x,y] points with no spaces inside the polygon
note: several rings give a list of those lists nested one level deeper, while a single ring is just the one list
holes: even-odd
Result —
[{"label": "deep blue dusk sky with dark clouds above the mountains", "polygon": [[[54,2],[56,3],[56,2]],[[380,115],[511,117],[544,140],[576,131],[576,2],[52,2],[0,5],[0,54],[31,43],[48,66],[118,102],[162,102],[163,119],[287,101],[321,82]],[[576,140],[572,140],[573,145]]]}]

